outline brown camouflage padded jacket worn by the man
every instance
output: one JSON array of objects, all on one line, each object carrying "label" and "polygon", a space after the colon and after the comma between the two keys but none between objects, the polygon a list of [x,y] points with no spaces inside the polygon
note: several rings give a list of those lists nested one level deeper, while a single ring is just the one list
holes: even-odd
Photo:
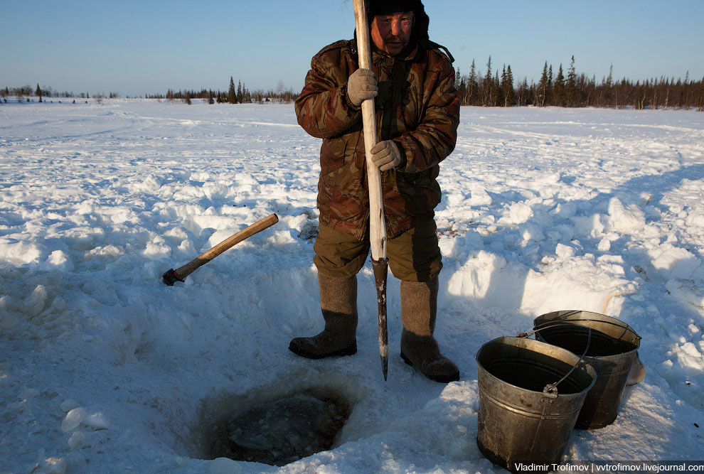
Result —
[{"label": "brown camouflage padded jacket worn by the man", "polygon": [[[403,57],[374,52],[378,78],[377,141],[393,139],[401,151],[398,168],[382,173],[389,237],[432,219],[440,202],[438,163],[454,149],[459,99],[454,70],[430,43]],[[369,217],[361,109],[347,97],[347,80],[358,69],[355,41],[338,41],[311,61],[296,100],[298,123],[323,139],[320,150],[320,222],[363,239]]]}]

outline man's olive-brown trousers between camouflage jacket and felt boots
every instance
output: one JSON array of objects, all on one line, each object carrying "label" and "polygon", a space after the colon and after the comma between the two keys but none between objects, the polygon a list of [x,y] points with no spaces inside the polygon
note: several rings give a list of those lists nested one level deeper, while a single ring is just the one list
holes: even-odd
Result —
[{"label": "man's olive-brown trousers between camouflage jacket and felt boots", "polygon": [[[369,233],[358,240],[353,235],[320,226],[313,247],[313,262],[318,271],[329,276],[348,278],[364,266],[369,254]],[[442,269],[442,256],[437,243],[437,227],[428,220],[386,244],[389,268],[393,276],[404,281],[429,281]]]}]

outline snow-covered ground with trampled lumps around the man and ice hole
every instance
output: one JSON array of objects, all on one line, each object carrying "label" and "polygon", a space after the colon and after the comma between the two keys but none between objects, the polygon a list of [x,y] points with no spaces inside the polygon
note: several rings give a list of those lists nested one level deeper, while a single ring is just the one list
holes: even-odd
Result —
[{"label": "snow-covered ground with trampled lumps around the man and ice hole", "polygon": [[[0,105],[0,472],[500,472],[476,448],[474,355],[564,309],[631,325],[648,369],[565,459],[703,458],[704,114],[462,109],[436,216],[436,335],[461,370],[447,386],[398,357],[392,277],[383,381],[369,266],[358,353],[287,349],[322,327],[318,150],[292,104]],[[354,404],[333,450],[283,468],[198,458],[208,419],[308,387]]]}]

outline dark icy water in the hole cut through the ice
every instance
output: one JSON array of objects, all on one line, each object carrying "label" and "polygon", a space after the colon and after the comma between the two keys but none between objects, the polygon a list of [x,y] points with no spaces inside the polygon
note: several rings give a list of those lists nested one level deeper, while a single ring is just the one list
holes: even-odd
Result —
[{"label": "dark icy water in the hole cut through the ice", "polygon": [[206,456],[286,465],[328,451],[350,413],[345,397],[323,389],[262,403],[213,426]]}]

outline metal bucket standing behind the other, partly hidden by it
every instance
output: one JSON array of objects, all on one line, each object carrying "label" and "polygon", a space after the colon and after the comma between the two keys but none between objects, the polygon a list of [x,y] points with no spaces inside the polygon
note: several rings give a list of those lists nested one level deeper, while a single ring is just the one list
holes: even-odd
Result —
[{"label": "metal bucket standing behind the other, partly hidden by it", "polygon": [[535,318],[533,325],[539,340],[575,354],[586,350],[585,360],[597,371],[597,382],[587,394],[575,427],[599,429],[612,424],[641,337],[626,323],[589,311],[555,311]]}]

